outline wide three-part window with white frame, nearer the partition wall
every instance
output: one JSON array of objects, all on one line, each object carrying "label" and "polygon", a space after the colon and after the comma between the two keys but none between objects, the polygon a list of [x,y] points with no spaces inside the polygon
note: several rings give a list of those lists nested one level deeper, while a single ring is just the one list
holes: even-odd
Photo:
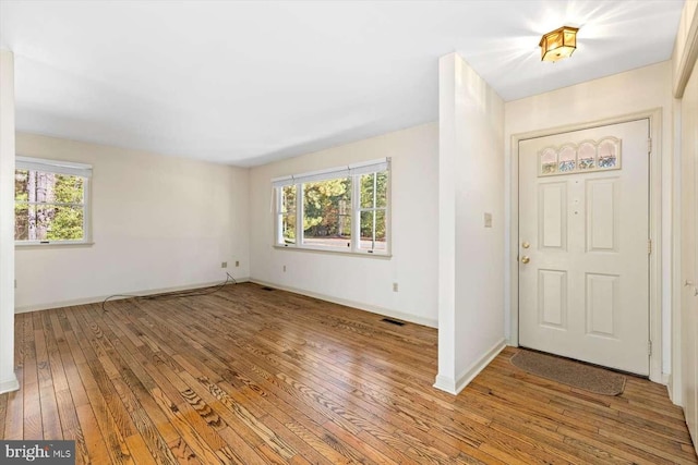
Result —
[{"label": "wide three-part window with white frame, nearer the partition wall", "polygon": [[387,255],[389,160],[272,181],[276,246]]}]

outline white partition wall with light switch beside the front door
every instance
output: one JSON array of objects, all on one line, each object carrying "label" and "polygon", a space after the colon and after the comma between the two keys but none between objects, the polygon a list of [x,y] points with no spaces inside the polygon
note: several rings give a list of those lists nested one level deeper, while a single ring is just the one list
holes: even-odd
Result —
[{"label": "white partition wall with light switch beside the front door", "polygon": [[438,74],[435,386],[457,393],[504,347],[504,102],[456,53]]}]

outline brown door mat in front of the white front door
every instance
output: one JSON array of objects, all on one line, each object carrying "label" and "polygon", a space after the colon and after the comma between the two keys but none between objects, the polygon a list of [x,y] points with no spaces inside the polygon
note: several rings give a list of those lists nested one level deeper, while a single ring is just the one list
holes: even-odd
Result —
[{"label": "brown door mat in front of the white front door", "polygon": [[623,375],[553,355],[519,351],[510,362],[531,375],[595,394],[621,395],[625,389]]}]

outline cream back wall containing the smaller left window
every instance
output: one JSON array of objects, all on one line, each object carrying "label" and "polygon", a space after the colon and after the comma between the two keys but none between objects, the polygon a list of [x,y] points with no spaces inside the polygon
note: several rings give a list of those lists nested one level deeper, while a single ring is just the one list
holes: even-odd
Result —
[{"label": "cream back wall containing the smaller left window", "polygon": [[94,173],[94,245],[17,246],[17,311],[249,277],[249,170],[22,133],[16,152]]}]

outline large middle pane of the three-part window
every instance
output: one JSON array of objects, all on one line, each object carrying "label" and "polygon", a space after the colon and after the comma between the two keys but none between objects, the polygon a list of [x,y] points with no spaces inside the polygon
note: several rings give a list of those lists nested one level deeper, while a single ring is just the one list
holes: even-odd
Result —
[{"label": "large middle pane of the three-part window", "polygon": [[303,184],[303,244],[351,245],[351,179]]}]

